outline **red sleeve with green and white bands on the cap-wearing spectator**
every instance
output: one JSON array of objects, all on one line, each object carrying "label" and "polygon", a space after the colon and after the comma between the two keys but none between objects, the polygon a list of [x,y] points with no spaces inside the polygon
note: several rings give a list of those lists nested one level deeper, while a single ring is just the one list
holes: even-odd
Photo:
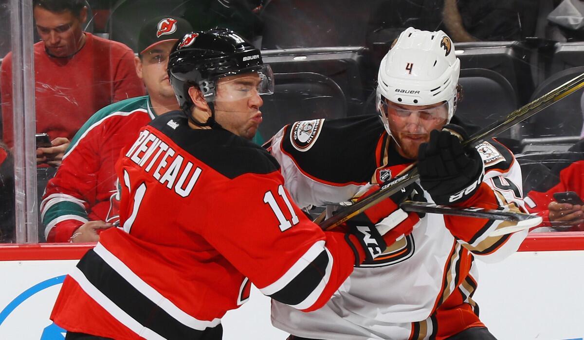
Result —
[{"label": "red sleeve with green and white bands on the cap-wearing spectator", "polygon": [[105,140],[103,125],[96,124],[94,117],[74,136],[55,177],[47,183],[40,206],[47,242],[67,242],[89,220],[98,190],[99,145]]}]

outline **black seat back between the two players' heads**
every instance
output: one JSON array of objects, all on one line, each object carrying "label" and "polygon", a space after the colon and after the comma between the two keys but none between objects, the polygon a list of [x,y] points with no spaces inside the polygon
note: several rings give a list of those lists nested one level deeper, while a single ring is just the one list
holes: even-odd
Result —
[{"label": "black seat back between the two players' heads", "polygon": [[346,117],[345,94],[327,76],[312,72],[274,74],[274,94],[263,96],[260,136],[267,140],[291,122]]}]

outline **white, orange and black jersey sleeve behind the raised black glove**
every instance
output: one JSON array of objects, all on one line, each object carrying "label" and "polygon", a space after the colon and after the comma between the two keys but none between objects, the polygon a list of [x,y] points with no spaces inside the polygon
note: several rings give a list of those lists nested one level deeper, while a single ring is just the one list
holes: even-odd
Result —
[{"label": "white, orange and black jersey sleeve behind the raised black glove", "polygon": [[[485,164],[485,177],[479,190],[460,206],[526,213],[521,169],[515,156],[493,140],[482,142],[477,150]],[[514,253],[528,232],[492,236],[495,230],[512,227],[515,222],[462,216],[444,216],[444,220],[458,242],[486,262],[497,262]]]}]

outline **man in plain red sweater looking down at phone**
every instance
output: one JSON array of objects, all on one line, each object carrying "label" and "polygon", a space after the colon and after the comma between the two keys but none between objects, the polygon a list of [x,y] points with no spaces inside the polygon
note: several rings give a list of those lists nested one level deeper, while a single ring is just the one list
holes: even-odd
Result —
[{"label": "man in plain red sweater looking down at phone", "polygon": [[[69,141],[100,108],[144,94],[126,45],[82,30],[87,19],[83,0],[33,0],[41,41],[34,44],[36,129],[52,147],[37,149],[37,163],[57,166]],[[13,144],[12,53],[2,62],[3,140]],[[21,114],[21,113],[16,113]]]}]

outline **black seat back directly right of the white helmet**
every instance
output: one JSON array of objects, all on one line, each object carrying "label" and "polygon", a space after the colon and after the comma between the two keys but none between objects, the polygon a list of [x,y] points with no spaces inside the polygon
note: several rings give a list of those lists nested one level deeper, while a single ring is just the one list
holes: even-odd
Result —
[{"label": "black seat back directly right of the white helmet", "polygon": [[[509,80],[495,71],[462,69],[458,83],[463,87],[463,100],[458,103],[456,115],[471,124],[486,127],[517,108]],[[516,125],[500,136],[519,139],[519,128]]]}]

